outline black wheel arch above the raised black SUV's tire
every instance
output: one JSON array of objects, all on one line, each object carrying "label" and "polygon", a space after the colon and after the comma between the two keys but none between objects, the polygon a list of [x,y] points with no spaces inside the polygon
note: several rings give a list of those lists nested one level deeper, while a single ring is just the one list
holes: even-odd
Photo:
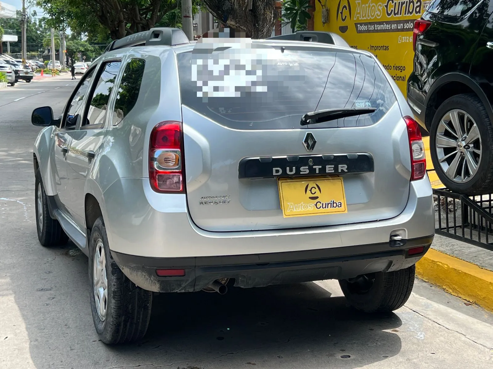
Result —
[{"label": "black wheel arch above the raised black SUV's tire", "polygon": [[493,109],[490,100],[481,87],[467,74],[447,73],[435,81],[426,95],[424,124],[428,132],[438,107],[449,97],[461,93],[474,93],[478,96],[488,112],[490,121],[493,122]]}]

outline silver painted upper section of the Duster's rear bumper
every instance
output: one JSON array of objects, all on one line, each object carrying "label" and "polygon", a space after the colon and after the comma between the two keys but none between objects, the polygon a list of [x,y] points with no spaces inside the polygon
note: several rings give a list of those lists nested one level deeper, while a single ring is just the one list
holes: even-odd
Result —
[{"label": "silver painted upper section of the Duster's rear bumper", "polygon": [[156,193],[145,178],[117,180],[103,192],[101,201],[111,251],[150,258],[335,249],[387,244],[394,234],[411,240],[435,232],[433,194],[427,177],[411,182],[408,202],[393,218],[294,229],[205,231],[188,215],[185,194]]}]

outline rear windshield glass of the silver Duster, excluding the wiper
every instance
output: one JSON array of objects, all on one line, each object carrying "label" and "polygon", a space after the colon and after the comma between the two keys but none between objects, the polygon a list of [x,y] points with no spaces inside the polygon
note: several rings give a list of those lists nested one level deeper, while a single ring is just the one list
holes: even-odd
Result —
[{"label": "rear windshield glass of the silver Duster, excluding the wiper", "polygon": [[[260,52],[221,49],[228,47],[177,55],[181,100],[231,128],[300,128],[301,117],[309,112],[376,108],[372,114],[313,125],[367,126],[378,122],[396,101],[375,60],[351,50],[266,45]],[[239,54],[241,58],[235,56]]]}]

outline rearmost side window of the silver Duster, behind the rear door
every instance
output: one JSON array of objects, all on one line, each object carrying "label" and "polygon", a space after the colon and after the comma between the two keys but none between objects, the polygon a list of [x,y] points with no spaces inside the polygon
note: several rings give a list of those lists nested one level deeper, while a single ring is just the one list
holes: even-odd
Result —
[{"label": "rearmost side window of the silver Duster, behind the rear door", "polygon": [[142,59],[132,59],[125,66],[113,110],[113,125],[120,123],[137,103],[144,67],[145,61]]}]

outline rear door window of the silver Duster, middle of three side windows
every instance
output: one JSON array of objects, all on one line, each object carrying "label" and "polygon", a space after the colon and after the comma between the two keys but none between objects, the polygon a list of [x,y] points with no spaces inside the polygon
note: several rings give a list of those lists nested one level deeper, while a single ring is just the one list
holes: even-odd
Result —
[{"label": "rear door window of the silver Duster, middle of three side windows", "polygon": [[102,72],[92,93],[91,103],[87,110],[87,118],[82,122],[82,127],[91,127],[105,123],[109,95],[115,85],[115,78],[120,70],[120,65],[121,62],[107,62],[103,64]]}]

